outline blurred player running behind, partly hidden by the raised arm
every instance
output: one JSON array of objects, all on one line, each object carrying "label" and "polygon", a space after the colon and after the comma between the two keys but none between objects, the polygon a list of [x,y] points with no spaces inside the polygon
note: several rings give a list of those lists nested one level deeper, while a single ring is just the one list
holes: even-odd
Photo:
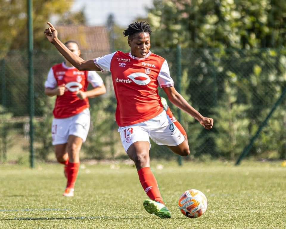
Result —
[{"label": "blurred player running behind, partly hidden by the raised arm", "polygon": [[[65,47],[76,56],[80,49],[76,41],[67,41]],[[87,90],[88,83],[94,87]],[[105,86],[94,71],[79,71],[67,60],[52,66],[45,82],[45,94],[57,96],[52,123],[52,144],[57,161],[64,165],[67,178],[64,196],[74,196],[74,184],[80,166],[80,148],[85,142],[90,113],[88,98],[105,94]]]}]

